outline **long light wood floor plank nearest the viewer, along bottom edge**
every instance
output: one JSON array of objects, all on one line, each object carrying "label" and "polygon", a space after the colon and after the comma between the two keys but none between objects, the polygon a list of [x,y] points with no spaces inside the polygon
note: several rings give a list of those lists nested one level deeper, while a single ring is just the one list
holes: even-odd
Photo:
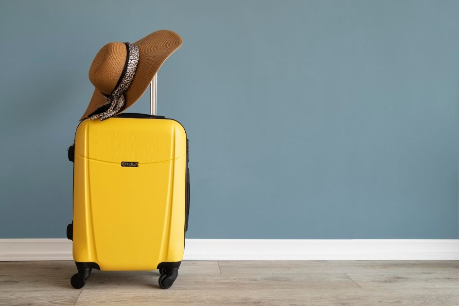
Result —
[{"label": "long light wood floor plank nearest the viewer, along bottom edge", "polygon": [[[96,297],[96,298],[95,298]],[[452,289],[246,289],[246,290],[88,290],[82,291],[77,306],[90,305],[221,305],[221,306],[371,306],[432,305],[457,306]]]}]

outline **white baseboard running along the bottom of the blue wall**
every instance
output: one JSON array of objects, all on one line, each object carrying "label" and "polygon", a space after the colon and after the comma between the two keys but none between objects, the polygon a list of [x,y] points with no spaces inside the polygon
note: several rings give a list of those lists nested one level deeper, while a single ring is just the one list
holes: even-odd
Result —
[{"label": "white baseboard running along the bottom of the blue wall", "polygon": [[[0,261],[72,260],[67,239],[0,239]],[[458,239],[186,239],[183,260],[459,260]]]}]

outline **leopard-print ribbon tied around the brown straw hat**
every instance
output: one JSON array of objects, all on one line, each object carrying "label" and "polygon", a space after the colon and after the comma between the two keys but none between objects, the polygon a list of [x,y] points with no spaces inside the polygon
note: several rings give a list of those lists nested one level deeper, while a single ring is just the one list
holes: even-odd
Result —
[{"label": "leopard-print ribbon tied around the brown straw hat", "polygon": [[91,116],[91,120],[100,118],[102,121],[108,119],[116,115],[124,106],[124,92],[131,85],[132,79],[134,79],[134,75],[136,74],[137,63],[139,62],[139,47],[131,43],[125,44],[127,46],[127,61],[124,65],[123,73],[121,73],[120,80],[118,80],[118,84],[115,86],[115,90],[113,90],[111,95],[103,94],[106,99],[104,105],[110,103],[110,107],[103,113]]}]

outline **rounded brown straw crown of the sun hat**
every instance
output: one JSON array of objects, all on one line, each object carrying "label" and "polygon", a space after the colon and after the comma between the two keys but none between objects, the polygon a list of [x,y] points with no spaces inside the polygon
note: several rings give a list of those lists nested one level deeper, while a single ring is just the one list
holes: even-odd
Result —
[{"label": "rounded brown straw crown of the sun hat", "polygon": [[126,62],[126,45],[110,42],[97,52],[89,68],[89,81],[101,93],[110,95],[123,73]]}]

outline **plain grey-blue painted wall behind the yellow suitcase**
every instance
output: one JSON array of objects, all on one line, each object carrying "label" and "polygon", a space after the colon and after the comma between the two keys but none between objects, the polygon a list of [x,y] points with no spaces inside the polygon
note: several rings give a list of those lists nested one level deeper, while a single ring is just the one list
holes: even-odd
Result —
[{"label": "plain grey-blue painted wall behind the yellow suitcase", "polygon": [[0,238],[65,236],[89,65],[163,28],[184,41],[159,114],[191,141],[189,238],[458,238],[458,15],[454,0],[1,1]]}]

